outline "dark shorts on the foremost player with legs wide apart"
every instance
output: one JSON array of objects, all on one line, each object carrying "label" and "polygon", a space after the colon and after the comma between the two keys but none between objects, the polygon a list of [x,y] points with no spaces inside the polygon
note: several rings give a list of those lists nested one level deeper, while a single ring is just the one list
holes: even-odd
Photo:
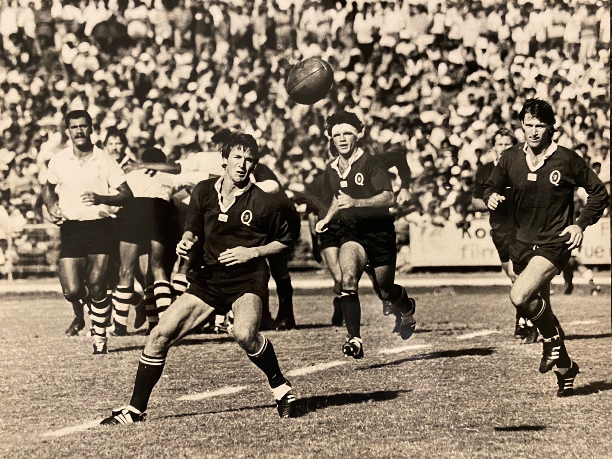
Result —
[{"label": "dark shorts on the foremost player with legs wide apart", "polygon": [[267,297],[270,275],[267,266],[258,265],[261,267],[258,271],[241,273],[231,269],[232,266],[192,270],[187,274],[190,282],[187,293],[215,308],[219,315],[225,315],[230,312],[234,302],[247,293],[255,294],[260,299]]}]

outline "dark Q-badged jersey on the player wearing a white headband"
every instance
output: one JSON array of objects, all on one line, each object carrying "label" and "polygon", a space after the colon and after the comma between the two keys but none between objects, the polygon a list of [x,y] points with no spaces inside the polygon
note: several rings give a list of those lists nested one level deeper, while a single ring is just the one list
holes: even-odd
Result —
[{"label": "dark Q-badged jersey on the player wearing a white headband", "polygon": [[[392,191],[389,172],[384,164],[362,149],[354,152],[349,166],[340,176],[338,172],[338,160],[330,162],[326,168],[329,184],[334,196],[340,195],[342,190],[345,195],[354,199],[367,199],[379,195],[384,191]],[[390,218],[389,207],[353,207],[351,209],[340,209],[340,220],[347,226],[354,227],[374,223],[372,220],[379,218]],[[373,228],[375,229],[375,228]]]}]

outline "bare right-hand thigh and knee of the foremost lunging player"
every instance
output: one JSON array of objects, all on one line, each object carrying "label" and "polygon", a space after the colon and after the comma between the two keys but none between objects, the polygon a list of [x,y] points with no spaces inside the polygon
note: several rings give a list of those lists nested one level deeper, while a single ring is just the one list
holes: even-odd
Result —
[{"label": "bare right-hand thigh and knee of the foremost lunging player", "polygon": [[261,298],[254,293],[245,293],[232,305],[234,339],[250,354],[256,353],[264,343],[258,331],[261,309]]}]

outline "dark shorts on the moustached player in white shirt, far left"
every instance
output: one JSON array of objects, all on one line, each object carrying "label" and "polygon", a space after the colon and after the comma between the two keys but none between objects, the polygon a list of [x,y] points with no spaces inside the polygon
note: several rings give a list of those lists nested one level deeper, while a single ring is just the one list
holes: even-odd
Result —
[{"label": "dark shorts on the moustached player in white shirt, far left", "polygon": [[111,255],[117,245],[114,236],[114,218],[66,220],[59,227],[59,258]]}]

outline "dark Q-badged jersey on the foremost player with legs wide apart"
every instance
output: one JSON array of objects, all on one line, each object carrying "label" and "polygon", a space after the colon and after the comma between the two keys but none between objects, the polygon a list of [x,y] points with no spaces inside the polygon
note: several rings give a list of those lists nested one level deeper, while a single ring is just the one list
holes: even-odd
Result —
[{"label": "dark Q-badged jersey on the foremost player with legs wide apart", "polygon": [[185,231],[191,231],[203,243],[201,264],[237,273],[266,271],[266,259],[226,267],[218,256],[228,248],[259,247],[273,241],[291,247],[293,239],[288,223],[278,212],[278,203],[253,184],[235,196],[230,207],[221,206],[218,190],[223,177],[204,180],[194,188],[189,203]]}]

